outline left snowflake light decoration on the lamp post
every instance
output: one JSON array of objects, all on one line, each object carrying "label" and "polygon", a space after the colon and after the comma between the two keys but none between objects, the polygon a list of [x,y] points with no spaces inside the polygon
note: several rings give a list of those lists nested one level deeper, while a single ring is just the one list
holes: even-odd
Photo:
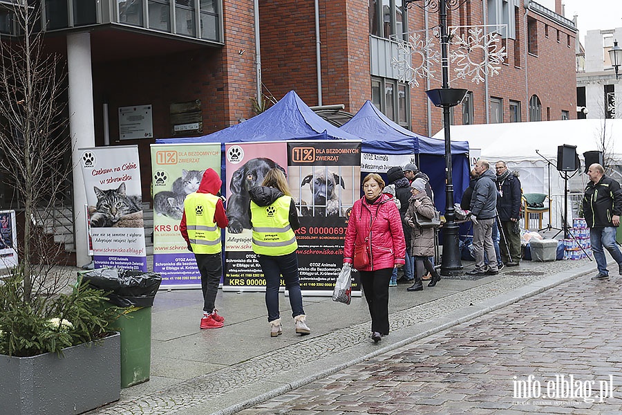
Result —
[{"label": "left snowflake light decoration on the lamp post", "polygon": [[424,39],[419,33],[408,35],[408,42],[398,41],[397,55],[391,65],[397,68],[397,79],[410,86],[419,86],[417,78],[433,78],[431,66],[440,59],[432,39]]}]

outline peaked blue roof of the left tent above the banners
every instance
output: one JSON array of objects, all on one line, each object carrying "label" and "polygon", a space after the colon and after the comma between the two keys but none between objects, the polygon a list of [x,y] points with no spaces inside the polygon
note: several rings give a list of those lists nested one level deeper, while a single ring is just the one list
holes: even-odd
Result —
[{"label": "peaked blue roof of the left tent above the banners", "polygon": [[261,114],[240,124],[191,138],[158,139],[158,144],[189,142],[276,141],[296,138],[331,140],[361,140],[347,131],[323,120],[294,92],[290,91],[279,102]]}]

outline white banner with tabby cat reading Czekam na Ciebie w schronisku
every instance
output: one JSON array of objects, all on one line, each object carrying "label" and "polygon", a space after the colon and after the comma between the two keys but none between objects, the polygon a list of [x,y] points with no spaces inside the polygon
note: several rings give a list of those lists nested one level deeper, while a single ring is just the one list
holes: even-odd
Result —
[{"label": "white banner with tabby cat reading Czekam na Ciebie w schronisku", "polygon": [[78,151],[95,268],[147,271],[138,146]]}]

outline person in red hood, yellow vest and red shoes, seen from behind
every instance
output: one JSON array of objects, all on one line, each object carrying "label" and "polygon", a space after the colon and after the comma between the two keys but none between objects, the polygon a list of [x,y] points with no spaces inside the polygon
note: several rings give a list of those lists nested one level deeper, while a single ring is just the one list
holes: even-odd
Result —
[{"label": "person in red hood, yellow vest and red shoes, seen from behind", "polygon": [[188,244],[188,250],[194,252],[201,273],[201,329],[218,329],[225,322],[225,318],[218,315],[214,307],[220,277],[223,275],[220,228],[229,224],[223,199],[216,196],[222,184],[214,169],[205,170],[198,190],[188,194],[184,200],[184,213],[179,224],[182,237]]}]

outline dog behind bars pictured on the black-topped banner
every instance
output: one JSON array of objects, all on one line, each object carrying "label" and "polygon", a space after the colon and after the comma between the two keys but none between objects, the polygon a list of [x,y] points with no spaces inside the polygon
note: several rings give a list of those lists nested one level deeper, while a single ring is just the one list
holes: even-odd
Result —
[{"label": "dog behind bars pictured on the black-topped banner", "polygon": [[312,174],[303,178],[301,187],[308,184],[313,194],[313,203],[307,206],[301,202],[301,214],[303,216],[343,216],[339,211],[340,203],[337,187],[346,189],[343,178],[339,174],[331,172],[324,167],[314,169]]}]

